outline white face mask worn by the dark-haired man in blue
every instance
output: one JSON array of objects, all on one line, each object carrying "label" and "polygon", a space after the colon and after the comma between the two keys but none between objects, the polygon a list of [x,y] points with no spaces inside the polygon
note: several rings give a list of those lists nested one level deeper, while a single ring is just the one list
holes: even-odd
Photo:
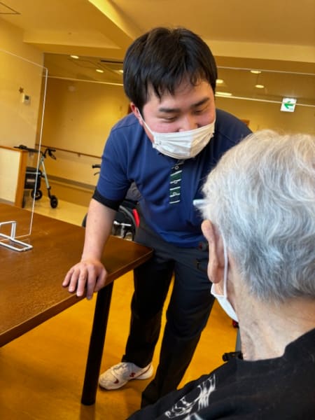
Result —
[{"label": "white face mask worn by the dark-haired man in blue", "polygon": [[[139,112],[141,116],[141,113]],[[175,159],[195,158],[202,149],[207,146],[212,137],[214,137],[214,124],[204,125],[184,132],[158,133],[153,132],[141,116],[141,120],[153,136],[153,148],[163,155]]]}]

